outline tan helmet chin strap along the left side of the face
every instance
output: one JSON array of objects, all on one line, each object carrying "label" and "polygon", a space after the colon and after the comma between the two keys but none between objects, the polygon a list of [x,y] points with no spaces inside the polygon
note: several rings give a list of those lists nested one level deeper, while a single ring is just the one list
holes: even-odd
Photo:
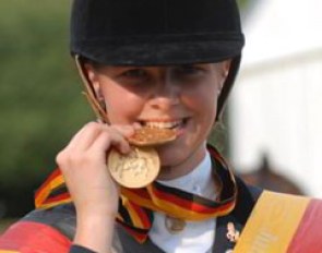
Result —
[{"label": "tan helmet chin strap along the left side of the face", "polygon": [[103,109],[102,105],[97,100],[95,91],[94,91],[90,80],[87,79],[87,75],[85,74],[85,70],[84,70],[84,67],[81,62],[79,55],[75,56],[75,63],[76,63],[77,71],[81,75],[81,79],[83,81],[83,84],[85,86],[85,92],[82,92],[82,94],[85,95],[85,97],[87,98],[87,101],[91,105],[98,121],[109,124],[108,116],[107,116],[105,109]]}]

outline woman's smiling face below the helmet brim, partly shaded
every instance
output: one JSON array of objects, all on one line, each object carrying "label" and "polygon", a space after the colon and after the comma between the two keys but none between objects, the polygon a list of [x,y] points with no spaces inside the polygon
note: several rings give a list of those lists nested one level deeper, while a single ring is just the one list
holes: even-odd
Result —
[{"label": "woman's smiling face below the helmet brim, partly shaded", "polygon": [[216,117],[217,97],[229,62],[166,67],[86,64],[98,99],[111,124],[140,123],[169,128],[176,141],[157,147],[160,179],[191,171],[205,155],[205,141]]}]

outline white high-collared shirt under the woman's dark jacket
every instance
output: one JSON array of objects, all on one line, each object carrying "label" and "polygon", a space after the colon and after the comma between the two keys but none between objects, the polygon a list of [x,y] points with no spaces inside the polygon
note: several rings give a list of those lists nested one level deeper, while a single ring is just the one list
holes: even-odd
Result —
[{"label": "white high-collared shirt under the woman's dark jacket", "polygon": [[[167,186],[177,188],[215,200],[215,185],[212,176],[210,154],[190,173],[174,180],[160,181]],[[167,253],[207,253],[215,240],[216,219],[186,221],[186,227],[178,233],[170,233],[165,226],[166,216],[154,213],[154,221],[148,232],[150,239]]]}]

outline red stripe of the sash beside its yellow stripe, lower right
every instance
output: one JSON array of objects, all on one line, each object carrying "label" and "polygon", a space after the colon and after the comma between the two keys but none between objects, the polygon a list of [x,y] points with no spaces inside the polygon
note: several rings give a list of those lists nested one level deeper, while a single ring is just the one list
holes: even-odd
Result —
[{"label": "red stripe of the sash beside its yellow stripe, lower right", "polygon": [[322,201],[312,200],[298,226],[287,253],[322,253]]}]

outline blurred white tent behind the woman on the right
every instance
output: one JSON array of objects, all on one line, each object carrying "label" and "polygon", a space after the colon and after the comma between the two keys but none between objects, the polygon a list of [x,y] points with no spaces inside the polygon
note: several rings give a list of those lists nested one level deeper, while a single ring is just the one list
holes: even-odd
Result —
[{"label": "blurred white tent behind the woman on the right", "polygon": [[243,28],[232,161],[250,170],[266,153],[279,173],[322,197],[322,1],[257,1]]}]

